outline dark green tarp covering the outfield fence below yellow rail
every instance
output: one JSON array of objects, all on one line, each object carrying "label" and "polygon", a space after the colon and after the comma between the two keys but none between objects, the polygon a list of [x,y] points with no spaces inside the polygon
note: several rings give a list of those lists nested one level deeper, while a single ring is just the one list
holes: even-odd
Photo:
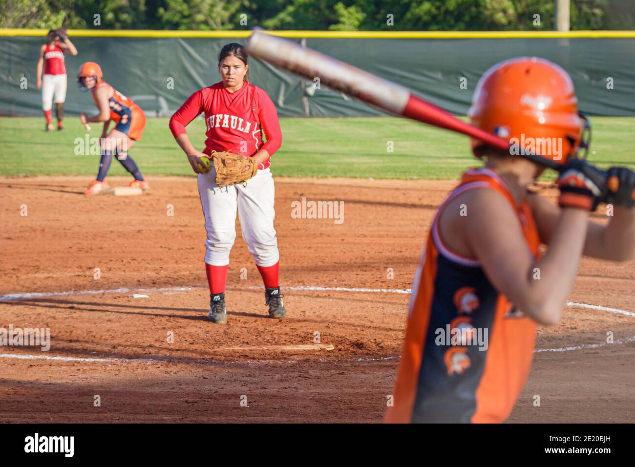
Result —
[{"label": "dark green tarp covering the outfield fence below yellow rail", "polygon": [[[230,33],[228,33],[230,34]],[[189,95],[220,81],[218,52],[244,37],[72,37],[65,112],[93,110],[75,83],[83,62],[98,62],[104,79],[149,116],[170,116]],[[552,60],[572,76],[580,109],[592,115],[635,115],[635,36],[512,38],[295,37],[314,50],[407,86],[454,114],[469,108],[479,77],[519,55]],[[0,36],[0,115],[41,115],[36,64],[44,37]],[[251,82],[271,96],[281,116],[377,116],[384,112],[312,81],[251,60]],[[464,86],[462,86],[464,83]]]}]

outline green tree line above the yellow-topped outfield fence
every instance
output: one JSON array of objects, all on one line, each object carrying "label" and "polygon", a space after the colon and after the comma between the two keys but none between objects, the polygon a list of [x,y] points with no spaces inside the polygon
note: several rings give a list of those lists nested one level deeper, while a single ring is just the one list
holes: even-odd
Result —
[{"label": "green tree line above the yellow-topped outfield fence", "polygon": [[[554,0],[3,0],[0,27],[552,30]],[[572,0],[571,29],[635,29],[635,0]]]}]

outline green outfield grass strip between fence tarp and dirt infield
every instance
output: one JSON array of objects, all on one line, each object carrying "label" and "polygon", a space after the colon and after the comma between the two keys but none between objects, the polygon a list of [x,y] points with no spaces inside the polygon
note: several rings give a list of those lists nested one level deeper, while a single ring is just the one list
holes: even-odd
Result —
[{"label": "green outfield grass strip between fence tarp and dirt infield", "polygon": [[[86,132],[78,118],[64,132],[44,132],[43,118],[0,118],[0,175],[86,175],[97,173],[99,156],[76,155]],[[589,160],[600,167],[635,168],[635,118],[592,118]],[[277,177],[373,177],[456,179],[478,165],[467,137],[398,118],[283,118],[284,142],[272,161]],[[204,123],[188,127],[203,149]],[[101,135],[93,125],[90,137]],[[394,151],[387,152],[388,142]],[[168,128],[168,119],[148,119],[144,139],[130,151],[144,175],[192,175]],[[116,162],[110,175],[126,172]],[[552,179],[552,175],[547,175]]]}]

